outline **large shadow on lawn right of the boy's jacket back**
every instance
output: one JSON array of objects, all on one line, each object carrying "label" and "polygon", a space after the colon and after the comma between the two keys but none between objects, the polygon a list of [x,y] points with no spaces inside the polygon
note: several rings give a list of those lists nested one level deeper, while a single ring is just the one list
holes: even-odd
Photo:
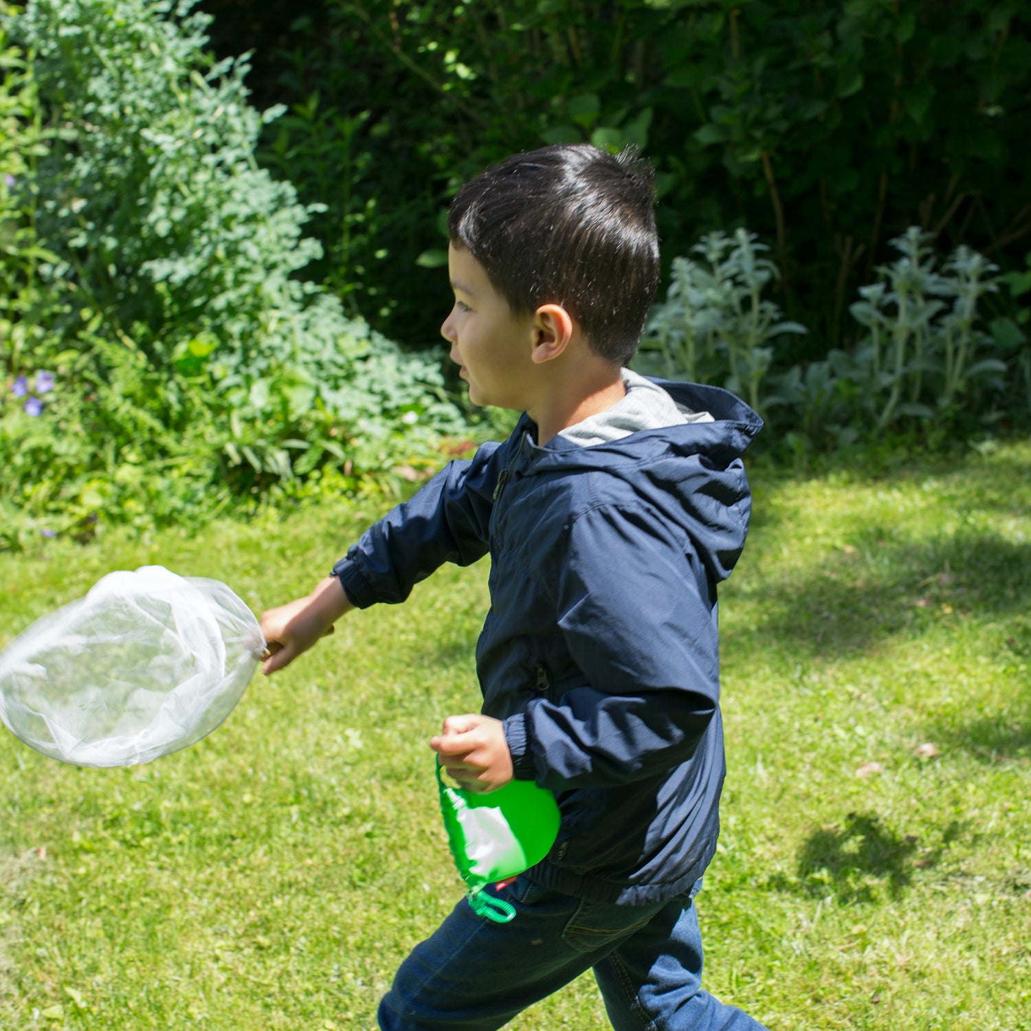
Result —
[{"label": "large shadow on lawn right of the boy's jacket back", "polygon": [[763,614],[735,634],[833,658],[935,621],[959,627],[1029,604],[1031,543],[969,532],[906,541],[875,527],[856,537],[819,569],[764,578]]}]

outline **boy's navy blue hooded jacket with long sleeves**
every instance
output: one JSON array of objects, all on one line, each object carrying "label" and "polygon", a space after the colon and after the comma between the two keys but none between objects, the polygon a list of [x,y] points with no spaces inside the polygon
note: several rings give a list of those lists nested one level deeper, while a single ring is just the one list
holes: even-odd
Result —
[{"label": "boy's navy blue hooded jacket with long sleeves", "polygon": [[716,851],[725,773],[717,585],[751,495],[741,453],[762,426],[727,391],[661,383],[710,423],[540,447],[523,415],[452,462],[334,567],[364,608],[403,601],[443,562],[490,551],[476,646],[483,711],[516,776],[552,789],[558,840],[529,871],[625,904],[687,890]]}]

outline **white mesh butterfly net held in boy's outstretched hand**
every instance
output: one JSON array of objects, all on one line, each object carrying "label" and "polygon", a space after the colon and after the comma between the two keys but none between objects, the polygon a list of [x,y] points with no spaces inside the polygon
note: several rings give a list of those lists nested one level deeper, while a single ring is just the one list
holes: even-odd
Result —
[{"label": "white mesh butterfly net held in boy's outstretched hand", "polygon": [[62,762],[147,763],[214,730],[264,647],[225,584],[163,566],[109,573],[0,653],[0,718]]}]

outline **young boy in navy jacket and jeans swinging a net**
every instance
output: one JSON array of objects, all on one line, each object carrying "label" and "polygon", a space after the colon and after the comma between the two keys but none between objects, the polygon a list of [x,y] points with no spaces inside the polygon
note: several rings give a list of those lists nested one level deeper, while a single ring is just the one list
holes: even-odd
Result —
[{"label": "young boy in navy jacket and jeans swinging a net", "polygon": [[490,551],[483,710],[430,745],[467,790],[551,789],[562,825],[542,862],[488,889],[517,918],[460,903],[402,964],[380,1027],[499,1028],[591,967],[618,1031],[760,1028],[702,991],[692,899],[724,777],[717,584],[744,542],[740,454],[762,424],[726,391],[624,368],[659,278],[632,155],[516,155],[462,189],[448,235],[451,358],[474,403],[524,414],[266,612],[265,672],[350,608]]}]

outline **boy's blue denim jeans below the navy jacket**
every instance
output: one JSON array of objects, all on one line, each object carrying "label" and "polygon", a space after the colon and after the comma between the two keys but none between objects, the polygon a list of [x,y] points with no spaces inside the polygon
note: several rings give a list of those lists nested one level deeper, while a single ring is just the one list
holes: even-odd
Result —
[{"label": "boy's blue denim jeans below the navy jacket", "polygon": [[[702,939],[692,902],[589,902],[519,877],[499,894],[509,924],[463,899],[401,964],[379,1004],[383,1031],[494,1031],[589,967],[616,1031],[762,1031],[702,990]],[[494,893],[493,889],[488,889]]]}]

